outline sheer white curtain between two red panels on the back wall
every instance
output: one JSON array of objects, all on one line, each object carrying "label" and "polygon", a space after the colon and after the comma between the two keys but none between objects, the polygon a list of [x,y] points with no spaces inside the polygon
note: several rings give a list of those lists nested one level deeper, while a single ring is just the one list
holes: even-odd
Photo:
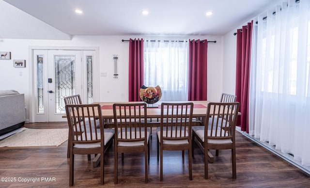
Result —
[{"label": "sheer white curtain between two red panels on the back wall", "polygon": [[188,42],[145,40],[144,85],[159,85],[160,101],[186,101],[188,97]]}]

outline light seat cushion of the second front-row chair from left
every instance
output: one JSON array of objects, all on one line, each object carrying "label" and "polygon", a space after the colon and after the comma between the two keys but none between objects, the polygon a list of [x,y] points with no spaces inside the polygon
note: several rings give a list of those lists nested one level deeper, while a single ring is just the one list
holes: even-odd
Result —
[{"label": "light seat cushion of the second front-row chair from left", "polygon": [[[134,131],[134,128],[131,128],[132,131],[131,131],[131,134],[132,134],[132,139],[136,139],[135,138],[135,131]],[[124,128],[123,130],[123,139],[125,139],[125,132],[126,132],[126,129]],[[141,138],[144,138],[144,128],[141,128]],[[146,141],[147,143],[149,142],[149,138],[150,138],[150,134],[151,134],[151,129],[150,128],[147,128],[147,132],[146,132]],[[118,133],[118,136],[117,138],[121,138],[121,132]],[[130,139],[130,129],[127,128],[127,139]],[[140,139],[140,130],[138,128],[137,130],[137,139]],[[118,146],[122,146],[122,147],[134,147],[134,146],[144,146],[144,141],[119,141],[118,142]]]}]

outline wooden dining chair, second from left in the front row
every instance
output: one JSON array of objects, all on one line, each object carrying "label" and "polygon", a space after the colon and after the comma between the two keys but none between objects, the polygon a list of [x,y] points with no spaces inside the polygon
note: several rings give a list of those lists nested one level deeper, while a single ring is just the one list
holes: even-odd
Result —
[{"label": "wooden dining chair, second from left in the front row", "polygon": [[114,184],[118,183],[118,154],[144,152],[145,183],[148,182],[150,129],[147,128],[145,103],[113,104],[114,114]]}]

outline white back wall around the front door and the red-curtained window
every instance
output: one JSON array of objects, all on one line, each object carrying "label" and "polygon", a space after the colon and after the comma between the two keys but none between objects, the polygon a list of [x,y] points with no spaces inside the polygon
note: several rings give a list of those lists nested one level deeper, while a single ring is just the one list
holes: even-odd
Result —
[{"label": "white back wall around the front door and the red-curtained window", "polygon": [[[108,77],[100,77],[100,101],[128,101],[128,52],[129,43],[122,39],[208,39],[208,100],[218,101],[222,93],[223,40],[221,36],[74,36],[72,40],[1,39],[0,51],[10,51],[11,60],[0,60],[0,90],[17,90],[25,94],[26,106],[31,96],[30,46],[42,47],[99,47],[99,70]],[[113,54],[118,55],[119,78],[113,78]],[[26,68],[13,67],[13,60],[26,60]],[[94,86],[95,87],[95,86]],[[29,108],[26,119],[29,119]]]}]

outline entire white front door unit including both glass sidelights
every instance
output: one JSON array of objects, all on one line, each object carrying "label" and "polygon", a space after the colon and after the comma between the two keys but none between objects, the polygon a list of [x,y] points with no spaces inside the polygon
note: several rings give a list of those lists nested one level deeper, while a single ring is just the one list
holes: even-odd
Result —
[{"label": "entire white front door unit including both glass sidelights", "polygon": [[80,94],[83,103],[92,103],[93,56],[91,50],[33,50],[33,122],[67,121],[62,118],[66,96]]}]

